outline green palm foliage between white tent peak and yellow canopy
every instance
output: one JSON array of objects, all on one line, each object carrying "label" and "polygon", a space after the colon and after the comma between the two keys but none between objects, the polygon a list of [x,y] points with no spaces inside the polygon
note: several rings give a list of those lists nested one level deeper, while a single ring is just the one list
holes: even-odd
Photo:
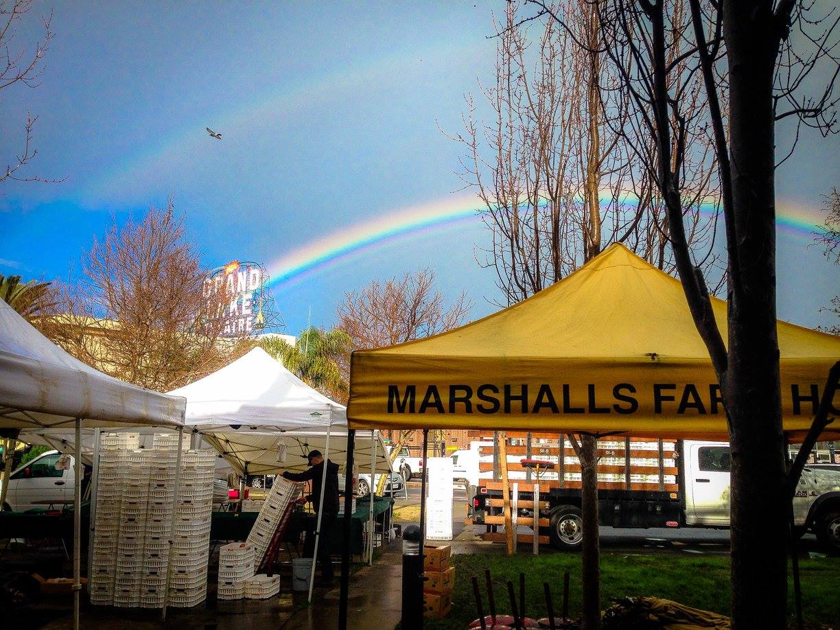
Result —
[{"label": "green palm foliage between white tent peak and yellow canopy", "polygon": [[286,370],[325,396],[346,398],[349,386],[342,366],[348,364],[353,344],[343,330],[311,327],[301,333],[295,345],[280,337],[265,337],[257,343]]}]

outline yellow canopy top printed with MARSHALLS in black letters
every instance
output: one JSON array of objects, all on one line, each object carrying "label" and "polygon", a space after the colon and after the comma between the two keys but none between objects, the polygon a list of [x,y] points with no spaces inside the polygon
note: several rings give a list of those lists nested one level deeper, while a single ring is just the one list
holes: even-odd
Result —
[{"label": "yellow canopy top printed with MARSHALLS in black letters", "polygon": [[[712,308],[726,331],[726,302],[712,298]],[[796,439],[840,359],[840,337],[785,322],[778,333],[784,428]],[[621,244],[474,323],[354,352],[347,417],[351,428],[727,439],[720,387],[680,281]],[[823,438],[840,437],[829,429]]]}]

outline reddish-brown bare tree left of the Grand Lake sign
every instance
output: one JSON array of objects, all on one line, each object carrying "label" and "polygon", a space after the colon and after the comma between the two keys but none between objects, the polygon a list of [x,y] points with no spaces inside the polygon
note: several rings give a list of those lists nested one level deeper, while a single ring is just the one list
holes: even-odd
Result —
[{"label": "reddish-brown bare tree left of the Grand Lake sign", "polygon": [[207,291],[171,201],[139,222],[114,223],[82,268],[81,281],[65,288],[66,314],[51,320],[48,334],[97,370],[170,391],[253,345],[247,333],[223,336],[232,296],[224,284]]}]

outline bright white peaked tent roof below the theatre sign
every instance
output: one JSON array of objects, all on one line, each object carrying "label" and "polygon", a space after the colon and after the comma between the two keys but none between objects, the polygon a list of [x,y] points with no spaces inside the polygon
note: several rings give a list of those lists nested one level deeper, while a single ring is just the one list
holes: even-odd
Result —
[{"label": "bright white peaked tent roof below the theatre sign", "polygon": [[[346,427],[343,405],[331,401],[255,348],[201,381],[169,392],[186,398],[186,426],[202,433]],[[233,425],[233,426],[231,426]]]}]

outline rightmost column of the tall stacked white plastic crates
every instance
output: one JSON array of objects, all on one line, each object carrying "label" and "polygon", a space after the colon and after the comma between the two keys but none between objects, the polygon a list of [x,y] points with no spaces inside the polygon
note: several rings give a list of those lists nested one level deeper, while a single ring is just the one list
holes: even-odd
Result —
[{"label": "rightmost column of the tall stacked white plastic crates", "polygon": [[196,606],[207,597],[215,466],[216,453],[212,450],[183,454],[170,559],[171,606]]}]

